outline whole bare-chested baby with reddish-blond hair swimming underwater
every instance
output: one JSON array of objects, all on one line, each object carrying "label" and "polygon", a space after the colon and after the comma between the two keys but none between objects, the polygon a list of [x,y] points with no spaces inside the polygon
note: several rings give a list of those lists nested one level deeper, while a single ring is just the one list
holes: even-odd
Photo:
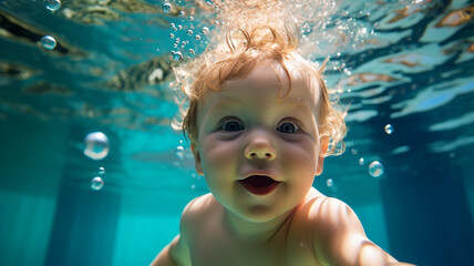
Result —
[{"label": "whole bare-chested baby with reddish-blond hair swimming underwater", "polygon": [[312,187],[343,150],[344,112],[297,42],[286,27],[229,30],[183,80],[183,130],[210,193],[186,206],[152,265],[402,265],[348,205]]}]

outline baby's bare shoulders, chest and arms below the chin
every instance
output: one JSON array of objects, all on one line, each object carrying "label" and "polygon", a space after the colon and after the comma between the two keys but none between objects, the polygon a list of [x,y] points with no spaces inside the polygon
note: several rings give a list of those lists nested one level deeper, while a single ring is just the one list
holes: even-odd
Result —
[{"label": "baby's bare shoulders, chest and arms below the chin", "polygon": [[182,235],[152,265],[409,265],[370,242],[344,203],[313,188],[274,231],[247,238],[227,223],[210,194],[196,198],[183,214]]}]

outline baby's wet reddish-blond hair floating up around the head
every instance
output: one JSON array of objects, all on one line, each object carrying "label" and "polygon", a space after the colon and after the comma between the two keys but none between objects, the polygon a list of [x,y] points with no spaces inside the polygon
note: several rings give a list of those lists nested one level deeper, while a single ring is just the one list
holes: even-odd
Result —
[{"label": "baby's wet reddish-blond hair floating up around the head", "polygon": [[[313,86],[312,91],[319,93],[315,95],[319,98],[316,117],[320,135],[329,136],[326,155],[341,154],[344,150],[342,139],[346,135],[346,111],[336,108],[338,101],[331,101],[321,78],[327,60],[322,66],[318,66],[299,57],[296,53],[298,35],[293,32],[298,32],[297,29],[286,24],[278,28],[268,24],[230,28],[214,49],[208,49],[199,58],[176,68],[176,84],[179,84],[179,91],[184,95],[177,98],[182,122],[179,119],[175,120],[174,127],[182,129],[185,136],[197,142],[197,110],[206,92],[219,91],[227,80],[245,78],[259,63],[278,63],[288,78],[289,90],[297,90],[291,88],[291,80],[298,75]],[[281,98],[287,96],[281,92],[282,90]]]}]

